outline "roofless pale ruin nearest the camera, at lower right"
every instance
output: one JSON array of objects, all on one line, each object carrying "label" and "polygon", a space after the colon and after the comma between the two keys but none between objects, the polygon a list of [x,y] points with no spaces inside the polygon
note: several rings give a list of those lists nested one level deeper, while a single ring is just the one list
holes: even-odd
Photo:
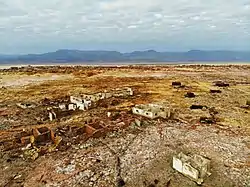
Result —
[{"label": "roofless pale ruin nearest the camera, at lower right", "polygon": [[206,177],[211,175],[210,160],[197,154],[185,155],[179,153],[173,157],[173,168],[199,185],[204,182]]}]

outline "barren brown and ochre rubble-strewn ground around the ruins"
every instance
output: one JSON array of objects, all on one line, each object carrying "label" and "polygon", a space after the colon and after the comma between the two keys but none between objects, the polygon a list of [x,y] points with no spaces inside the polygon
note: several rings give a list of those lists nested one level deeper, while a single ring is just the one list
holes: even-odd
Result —
[{"label": "barren brown and ochre rubble-strewn ground around the ruins", "polygon": [[[229,86],[214,86],[218,80]],[[250,66],[25,67],[1,70],[0,84],[0,186],[197,186],[171,167],[181,151],[211,159],[212,175],[203,186],[250,185]],[[117,87],[131,87],[134,95],[48,119],[47,103]],[[20,102],[36,107],[21,109]],[[175,110],[171,120],[131,113],[135,104],[155,102]],[[201,123],[211,112],[214,121]],[[86,118],[104,127],[97,138],[71,130]],[[35,160],[26,158],[15,139],[43,126],[62,141]]]}]

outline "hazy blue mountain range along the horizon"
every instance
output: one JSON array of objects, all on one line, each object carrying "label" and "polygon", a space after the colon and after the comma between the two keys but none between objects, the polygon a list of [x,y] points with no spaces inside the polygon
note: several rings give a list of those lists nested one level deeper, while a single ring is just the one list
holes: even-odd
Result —
[{"label": "hazy blue mountain range along the horizon", "polygon": [[0,64],[69,62],[250,62],[250,51],[157,52],[154,50],[120,53],[117,51],[58,50],[44,54],[0,55]]}]

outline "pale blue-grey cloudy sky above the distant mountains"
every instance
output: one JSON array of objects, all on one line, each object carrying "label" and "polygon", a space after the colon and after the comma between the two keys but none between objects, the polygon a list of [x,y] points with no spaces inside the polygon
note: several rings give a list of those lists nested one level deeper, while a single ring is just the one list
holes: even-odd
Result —
[{"label": "pale blue-grey cloudy sky above the distant mountains", "polygon": [[0,0],[0,54],[250,51],[250,0]]}]

